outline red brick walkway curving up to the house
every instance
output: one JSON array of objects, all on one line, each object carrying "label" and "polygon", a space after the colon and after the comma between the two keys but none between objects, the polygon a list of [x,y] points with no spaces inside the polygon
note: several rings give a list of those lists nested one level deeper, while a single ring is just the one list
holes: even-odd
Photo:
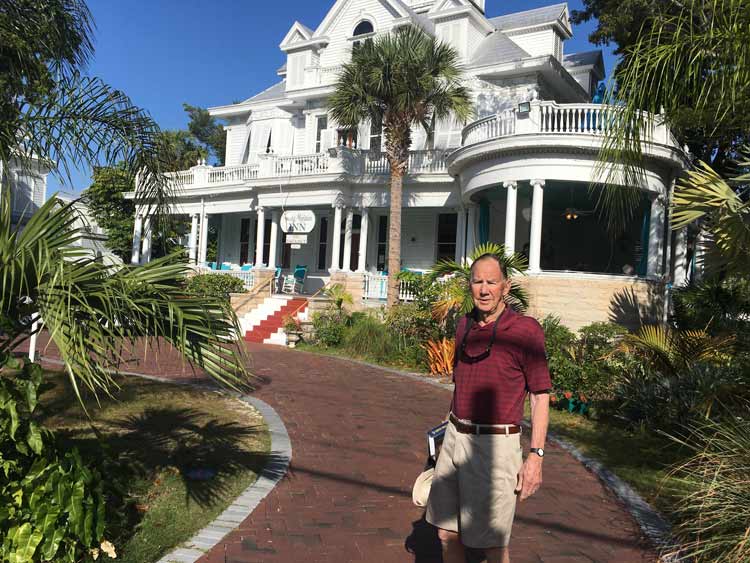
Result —
[{"label": "red brick walkway curving up to the house", "polygon": [[[424,462],[424,431],[445,415],[450,393],[345,360],[249,349],[265,379],[255,395],[284,420],[293,459],[287,477],[201,563],[439,562],[411,485]],[[189,371],[166,352],[158,365],[131,369]],[[519,505],[513,562],[654,561],[599,481],[560,448],[547,451],[542,490]]]}]

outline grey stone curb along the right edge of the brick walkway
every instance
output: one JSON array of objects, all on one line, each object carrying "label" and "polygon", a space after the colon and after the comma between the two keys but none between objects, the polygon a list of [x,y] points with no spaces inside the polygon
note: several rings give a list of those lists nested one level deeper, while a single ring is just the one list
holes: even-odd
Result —
[{"label": "grey stone curb along the right edge of the brick walkway", "polygon": [[[389,368],[384,366],[378,366],[362,360],[356,360],[353,358],[346,358],[341,356],[334,356],[332,354],[323,354],[320,352],[310,352],[308,350],[299,350],[300,352],[306,352],[308,354],[316,354],[319,356],[326,356],[329,358],[338,358],[347,362],[355,364],[365,365],[368,367],[378,368],[383,371],[408,377],[418,381],[424,381],[436,387],[443,389],[453,389],[453,385],[449,383],[440,383],[438,381],[430,380],[427,377],[406,371],[400,371],[395,368]],[[527,421],[523,421],[523,425],[530,428],[531,425]],[[591,459],[584,455],[576,446],[568,442],[567,440],[560,438],[554,432],[548,431],[547,437],[550,441],[555,442],[562,449],[566,450],[572,455],[581,465],[591,471],[604,486],[610,490],[619,500],[623,503],[626,510],[635,519],[636,523],[640,527],[644,535],[649,541],[656,546],[658,550],[673,549],[674,541],[671,535],[671,528],[664,517],[653,508],[643,497],[641,497],[635,489],[628,485],[625,481],[620,479],[617,475],[607,469],[602,463]],[[674,556],[662,556],[660,562],[662,563],[677,563],[680,561],[678,555]]]}]

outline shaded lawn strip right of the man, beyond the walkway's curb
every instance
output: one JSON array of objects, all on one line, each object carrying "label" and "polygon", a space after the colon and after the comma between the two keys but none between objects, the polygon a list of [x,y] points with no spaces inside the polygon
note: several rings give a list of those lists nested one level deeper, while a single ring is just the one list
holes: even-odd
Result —
[{"label": "shaded lawn strip right of the man, beyond the walkway's curb", "polygon": [[[526,416],[529,415],[527,406]],[[587,457],[604,464],[669,518],[680,491],[678,482],[669,477],[669,470],[687,454],[675,442],[656,432],[630,431],[555,409],[550,410],[549,429]]]}]

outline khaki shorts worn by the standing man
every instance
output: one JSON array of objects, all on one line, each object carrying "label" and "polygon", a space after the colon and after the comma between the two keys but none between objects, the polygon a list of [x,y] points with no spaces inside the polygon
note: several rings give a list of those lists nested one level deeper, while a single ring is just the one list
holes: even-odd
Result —
[{"label": "khaki shorts worn by the standing man", "polygon": [[516,512],[521,435],[461,434],[448,423],[427,502],[427,521],[467,547],[505,547]]}]

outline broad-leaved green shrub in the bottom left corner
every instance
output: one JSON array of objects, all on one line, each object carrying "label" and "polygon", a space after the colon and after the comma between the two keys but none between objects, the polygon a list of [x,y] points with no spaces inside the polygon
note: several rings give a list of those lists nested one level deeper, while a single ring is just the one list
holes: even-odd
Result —
[{"label": "broad-leaved green shrub in the bottom left corner", "polygon": [[[77,450],[57,451],[33,420],[42,369],[26,362],[0,376],[0,560],[75,563],[104,542],[102,474]],[[111,486],[111,480],[107,481]]]}]

